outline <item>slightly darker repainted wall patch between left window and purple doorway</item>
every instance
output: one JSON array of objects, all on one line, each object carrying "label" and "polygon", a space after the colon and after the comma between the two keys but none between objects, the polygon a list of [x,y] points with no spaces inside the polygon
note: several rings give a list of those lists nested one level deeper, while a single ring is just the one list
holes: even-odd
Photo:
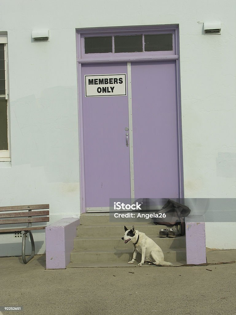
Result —
[{"label": "slightly darker repainted wall patch between left window and purple doorway", "polygon": [[10,115],[14,166],[43,167],[51,182],[78,181],[76,86],[57,86],[43,90],[38,98],[12,100]]}]

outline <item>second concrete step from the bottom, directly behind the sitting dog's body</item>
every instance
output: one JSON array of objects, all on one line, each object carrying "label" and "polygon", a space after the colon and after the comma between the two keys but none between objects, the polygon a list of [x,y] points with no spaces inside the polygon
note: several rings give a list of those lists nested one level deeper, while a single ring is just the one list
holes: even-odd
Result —
[{"label": "second concrete step from the bottom, directly behind the sitting dog's body", "polygon": [[[160,238],[156,235],[150,235],[160,248],[183,248],[185,247],[185,236],[177,238]],[[87,236],[76,237],[74,239],[74,249],[127,249],[130,246],[117,236],[101,237],[101,236]]]}]

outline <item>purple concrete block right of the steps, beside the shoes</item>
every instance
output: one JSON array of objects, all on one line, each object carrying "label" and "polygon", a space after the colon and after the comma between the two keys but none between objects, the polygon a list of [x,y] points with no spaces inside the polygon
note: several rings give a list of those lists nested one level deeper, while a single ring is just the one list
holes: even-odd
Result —
[{"label": "purple concrete block right of the steps, beside the shoes", "polygon": [[187,264],[206,263],[205,221],[202,215],[185,218]]}]

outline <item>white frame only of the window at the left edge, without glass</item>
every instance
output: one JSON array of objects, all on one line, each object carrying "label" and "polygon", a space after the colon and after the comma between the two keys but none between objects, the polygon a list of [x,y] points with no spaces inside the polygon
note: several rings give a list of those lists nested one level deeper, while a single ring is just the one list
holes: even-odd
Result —
[{"label": "white frame only of the window at the left edge, without glass", "polygon": [[5,61],[5,98],[7,100],[7,136],[8,150],[0,150],[0,162],[11,161],[10,157],[10,130],[9,130],[9,97],[8,97],[8,40],[6,33],[0,33],[0,43],[4,44],[4,61]]}]

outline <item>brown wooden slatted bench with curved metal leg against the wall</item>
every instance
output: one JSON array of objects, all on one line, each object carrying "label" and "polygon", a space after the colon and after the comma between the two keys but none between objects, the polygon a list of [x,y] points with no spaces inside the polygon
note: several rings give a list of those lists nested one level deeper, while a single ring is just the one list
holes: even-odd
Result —
[{"label": "brown wooden slatted bench with curved metal leg against the wall", "polygon": [[[32,211],[39,210],[40,211]],[[1,228],[0,233],[8,234],[8,233],[16,233],[21,232],[22,234],[22,260],[25,264],[29,262],[35,254],[35,244],[34,238],[32,234],[32,230],[43,230],[45,226],[32,226],[34,222],[48,222],[49,204],[34,204],[29,206],[13,206],[13,207],[0,207],[0,227],[3,224],[20,224],[20,223],[28,223],[26,227],[9,227],[9,228]],[[17,211],[17,212],[11,212]],[[25,257],[25,239],[26,235],[29,233],[31,240],[31,255],[30,257]]]}]

